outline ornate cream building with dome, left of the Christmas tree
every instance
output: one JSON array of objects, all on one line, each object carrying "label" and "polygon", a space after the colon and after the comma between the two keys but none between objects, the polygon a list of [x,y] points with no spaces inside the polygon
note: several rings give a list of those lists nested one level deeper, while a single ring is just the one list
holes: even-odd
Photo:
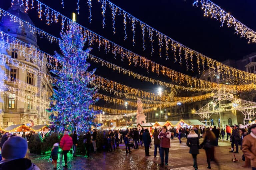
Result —
[{"label": "ornate cream building with dome, left of the Christmas tree", "polygon": [[[20,3],[15,0],[7,11],[33,25]],[[19,23],[14,23],[7,15],[0,18],[0,30],[38,48],[36,34],[32,34],[26,27],[20,27]],[[1,46],[0,54],[20,62],[19,65],[0,63],[0,127],[47,124],[50,113],[45,109],[49,107],[53,89],[49,80],[40,76],[49,74],[46,64],[41,66],[33,63],[33,60],[26,60],[26,53],[15,48],[10,51]],[[46,56],[42,55],[41,59],[47,62]]]}]

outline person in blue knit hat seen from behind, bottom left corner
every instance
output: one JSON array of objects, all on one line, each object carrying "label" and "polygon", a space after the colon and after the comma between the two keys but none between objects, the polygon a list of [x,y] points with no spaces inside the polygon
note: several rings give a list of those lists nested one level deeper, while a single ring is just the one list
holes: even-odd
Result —
[{"label": "person in blue knit hat seen from behind, bottom left corner", "polygon": [[9,137],[2,147],[0,169],[12,170],[40,170],[31,160],[24,158],[28,149],[28,143],[20,136]]}]

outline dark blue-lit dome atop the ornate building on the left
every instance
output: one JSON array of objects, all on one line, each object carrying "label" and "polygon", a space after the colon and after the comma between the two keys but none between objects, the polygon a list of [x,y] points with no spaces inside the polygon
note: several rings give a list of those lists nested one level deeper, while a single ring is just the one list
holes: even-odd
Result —
[{"label": "dark blue-lit dome atop the ornate building on the left", "polygon": [[[12,15],[19,17],[20,19],[28,22],[31,25],[34,25],[34,23],[29,18],[28,14],[26,14],[25,7],[21,4],[21,0],[14,0],[13,6],[10,7],[7,12],[11,13]],[[36,34],[33,34],[29,31],[27,28],[27,25],[24,24],[23,28],[20,27],[18,22],[11,21],[11,17],[8,15],[2,16],[0,18],[0,30],[3,32],[9,34],[10,36],[13,36],[23,42],[26,42],[28,44],[37,46],[36,42]]]}]

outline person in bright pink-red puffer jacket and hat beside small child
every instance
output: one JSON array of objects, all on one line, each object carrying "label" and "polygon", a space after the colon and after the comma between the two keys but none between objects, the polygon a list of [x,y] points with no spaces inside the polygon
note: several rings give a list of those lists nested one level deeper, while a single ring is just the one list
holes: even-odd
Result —
[{"label": "person in bright pink-red puffer jacket and hat beside small child", "polygon": [[72,137],[69,136],[68,131],[64,131],[64,135],[60,140],[60,148],[63,151],[64,161],[65,161],[65,166],[64,167],[68,167],[68,165],[67,165],[67,158],[68,158],[67,153],[71,149],[72,146],[73,146]]}]

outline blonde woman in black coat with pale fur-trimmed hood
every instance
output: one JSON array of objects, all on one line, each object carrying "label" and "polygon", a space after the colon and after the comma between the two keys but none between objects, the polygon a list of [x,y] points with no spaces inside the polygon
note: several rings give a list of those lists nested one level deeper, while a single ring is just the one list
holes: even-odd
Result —
[{"label": "blonde woman in black coat with pale fur-trimmed hood", "polygon": [[198,134],[194,130],[191,130],[188,134],[188,139],[187,139],[187,146],[190,147],[189,153],[192,154],[194,164],[193,167],[195,170],[198,170],[197,166],[197,154],[199,154],[199,139],[198,139]]}]

